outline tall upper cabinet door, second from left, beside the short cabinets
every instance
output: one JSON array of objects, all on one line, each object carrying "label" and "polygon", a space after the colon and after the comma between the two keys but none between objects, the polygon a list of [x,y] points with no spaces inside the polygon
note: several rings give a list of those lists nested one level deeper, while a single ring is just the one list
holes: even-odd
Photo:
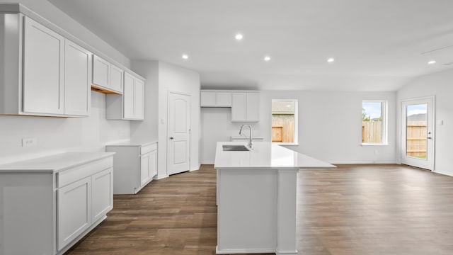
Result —
[{"label": "tall upper cabinet door, second from left, beside the short cabinets", "polygon": [[90,81],[91,52],[66,40],[64,47],[64,114],[89,115]]}]

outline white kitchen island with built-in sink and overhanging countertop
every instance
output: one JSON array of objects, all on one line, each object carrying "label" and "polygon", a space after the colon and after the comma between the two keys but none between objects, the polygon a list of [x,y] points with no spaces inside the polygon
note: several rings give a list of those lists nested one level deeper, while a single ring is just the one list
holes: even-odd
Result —
[{"label": "white kitchen island with built-in sink and overhanging countertop", "polygon": [[299,169],[331,164],[270,142],[249,151],[224,151],[217,142],[217,254],[297,254],[296,203]]}]

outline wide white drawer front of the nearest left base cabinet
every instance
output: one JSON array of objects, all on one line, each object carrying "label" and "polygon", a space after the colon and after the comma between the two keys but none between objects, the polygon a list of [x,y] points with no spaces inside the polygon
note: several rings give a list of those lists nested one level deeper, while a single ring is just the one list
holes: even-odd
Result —
[{"label": "wide white drawer front of the nearest left base cabinet", "polygon": [[74,181],[84,179],[87,176],[91,176],[96,174],[98,171],[103,171],[110,167],[113,167],[113,157],[108,157],[90,164],[78,166],[74,169],[62,171],[57,174],[57,188],[66,186]]}]

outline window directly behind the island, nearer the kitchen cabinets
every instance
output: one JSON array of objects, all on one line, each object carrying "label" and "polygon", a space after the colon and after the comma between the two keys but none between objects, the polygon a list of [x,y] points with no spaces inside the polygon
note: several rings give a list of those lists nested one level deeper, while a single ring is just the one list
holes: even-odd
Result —
[{"label": "window directly behind the island, nearer the kitchen cabinets", "polygon": [[272,142],[297,145],[297,100],[273,99]]}]

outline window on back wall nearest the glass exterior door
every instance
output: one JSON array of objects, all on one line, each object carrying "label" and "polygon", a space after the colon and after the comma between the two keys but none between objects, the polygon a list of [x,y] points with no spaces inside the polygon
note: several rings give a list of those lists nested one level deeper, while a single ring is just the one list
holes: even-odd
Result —
[{"label": "window on back wall nearest the glass exterior door", "polygon": [[386,115],[386,101],[362,101],[362,145],[386,145]]}]

